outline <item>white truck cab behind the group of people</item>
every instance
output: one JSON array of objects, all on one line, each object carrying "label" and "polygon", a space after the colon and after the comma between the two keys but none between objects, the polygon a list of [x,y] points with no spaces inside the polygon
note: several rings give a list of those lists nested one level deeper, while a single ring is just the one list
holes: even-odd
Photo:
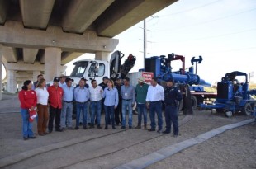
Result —
[{"label": "white truck cab behind the group of people", "polygon": [[82,77],[88,80],[89,86],[91,86],[92,79],[100,83],[102,77],[110,77],[109,62],[107,61],[84,59],[73,63],[73,65],[74,68],[69,77],[73,78],[74,86],[78,85]]}]

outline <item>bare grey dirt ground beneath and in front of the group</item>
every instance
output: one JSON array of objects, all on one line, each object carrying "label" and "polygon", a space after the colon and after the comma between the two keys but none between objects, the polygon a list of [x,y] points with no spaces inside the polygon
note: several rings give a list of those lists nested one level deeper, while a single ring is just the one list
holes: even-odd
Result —
[{"label": "bare grey dirt ground beneath and in front of the group", "polygon": [[[17,109],[17,98],[11,97],[10,101],[13,108]],[[6,105],[9,107],[10,101],[0,101],[1,110],[5,110]],[[183,117],[184,115],[180,115],[179,119]],[[1,111],[0,160],[28,150],[78,139],[84,141],[38,154],[7,168],[114,168],[160,148],[194,138],[211,129],[249,118],[251,117],[244,115],[226,118],[224,114],[211,114],[210,110],[195,111],[192,120],[180,127],[178,138],[173,138],[172,134],[151,133],[144,129],[122,131],[118,127],[116,130],[108,129],[107,131],[78,129],[78,131],[69,130],[63,133],[53,132],[43,137],[38,136],[34,140],[23,141],[20,113]],[[133,115],[133,120],[135,126],[137,115]],[[34,131],[36,131],[36,123]],[[256,168],[255,155],[256,124],[253,123],[226,131],[148,168]]]}]

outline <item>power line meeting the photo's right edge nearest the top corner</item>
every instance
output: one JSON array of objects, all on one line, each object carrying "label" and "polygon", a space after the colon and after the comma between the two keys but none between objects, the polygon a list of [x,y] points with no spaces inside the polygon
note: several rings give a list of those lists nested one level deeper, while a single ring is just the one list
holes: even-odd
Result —
[{"label": "power line meeting the photo's right edge nearest the top corner", "polygon": [[173,31],[173,30],[179,30],[179,29],[185,28],[185,27],[198,26],[198,25],[209,23],[209,22],[219,21],[219,20],[223,20],[223,19],[226,19],[226,18],[229,18],[229,17],[233,17],[233,16],[237,16],[237,15],[240,15],[240,14],[244,14],[244,13],[247,13],[247,12],[253,12],[254,10],[256,10],[256,8],[249,9],[249,10],[246,10],[244,12],[238,12],[238,13],[235,13],[235,14],[232,14],[232,15],[228,15],[228,16],[218,17],[216,19],[212,19],[212,20],[209,20],[209,21],[201,21],[201,22],[198,22],[197,24],[192,24],[192,25],[187,25],[187,26],[175,26],[175,27],[173,27],[174,29],[171,27],[171,28],[168,28],[168,29],[157,30],[157,31]]}]

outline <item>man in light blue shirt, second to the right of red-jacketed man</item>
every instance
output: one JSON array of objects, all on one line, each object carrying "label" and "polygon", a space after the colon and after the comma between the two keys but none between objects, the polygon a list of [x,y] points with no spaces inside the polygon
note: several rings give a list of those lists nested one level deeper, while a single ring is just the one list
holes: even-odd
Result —
[{"label": "man in light blue shirt, second to the right of red-jacketed man", "polygon": [[84,87],[85,80],[81,78],[79,81],[79,87],[74,89],[74,100],[76,101],[77,117],[76,117],[76,127],[79,129],[79,119],[80,112],[83,115],[83,129],[87,129],[87,113],[88,113],[88,100],[90,98],[90,92],[87,87]]}]

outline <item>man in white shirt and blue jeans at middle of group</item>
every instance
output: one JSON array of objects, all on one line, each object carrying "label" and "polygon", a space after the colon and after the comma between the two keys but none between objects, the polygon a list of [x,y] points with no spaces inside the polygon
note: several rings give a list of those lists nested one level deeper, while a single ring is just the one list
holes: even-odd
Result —
[{"label": "man in white shirt and blue jeans at middle of group", "polygon": [[92,112],[90,129],[94,128],[95,115],[97,118],[97,129],[101,127],[101,111],[102,111],[102,87],[97,85],[96,80],[92,80],[92,87],[89,87],[90,92],[90,108]]}]

